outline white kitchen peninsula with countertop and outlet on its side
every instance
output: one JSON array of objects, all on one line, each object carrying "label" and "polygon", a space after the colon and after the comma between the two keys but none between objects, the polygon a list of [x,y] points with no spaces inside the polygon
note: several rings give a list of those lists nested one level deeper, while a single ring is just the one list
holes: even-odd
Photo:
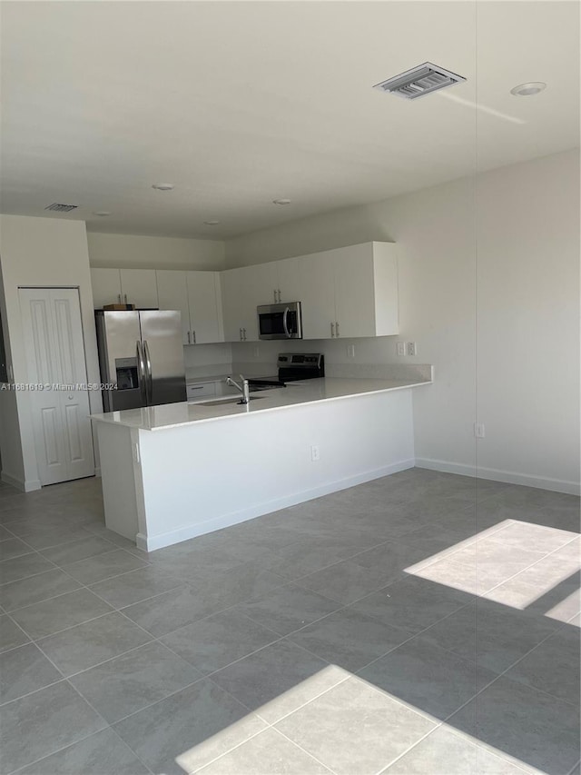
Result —
[{"label": "white kitchen peninsula with countertop and outlet on its side", "polygon": [[107,527],[153,551],[409,468],[425,369],[94,414]]}]

